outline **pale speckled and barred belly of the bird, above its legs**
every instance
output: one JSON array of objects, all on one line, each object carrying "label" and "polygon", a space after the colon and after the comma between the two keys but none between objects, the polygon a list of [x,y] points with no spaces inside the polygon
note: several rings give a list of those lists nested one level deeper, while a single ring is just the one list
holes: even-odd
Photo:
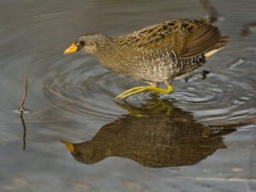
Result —
[{"label": "pale speckled and barred belly of the bird, above its legs", "polygon": [[[105,60],[106,61],[106,60]],[[205,63],[204,54],[179,61],[108,61],[101,62],[108,70],[131,79],[161,83],[191,72]]]}]

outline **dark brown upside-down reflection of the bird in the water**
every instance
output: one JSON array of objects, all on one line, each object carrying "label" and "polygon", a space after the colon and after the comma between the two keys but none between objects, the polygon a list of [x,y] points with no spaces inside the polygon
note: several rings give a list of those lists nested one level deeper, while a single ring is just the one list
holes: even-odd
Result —
[{"label": "dark brown upside-down reflection of the bird in the water", "polygon": [[152,168],[188,166],[225,148],[221,136],[235,131],[199,124],[192,113],[166,100],[152,99],[139,107],[125,101],[116,104],[128,114],[101,127],[92,140],[61,141],[80,163],[124,157]]}]

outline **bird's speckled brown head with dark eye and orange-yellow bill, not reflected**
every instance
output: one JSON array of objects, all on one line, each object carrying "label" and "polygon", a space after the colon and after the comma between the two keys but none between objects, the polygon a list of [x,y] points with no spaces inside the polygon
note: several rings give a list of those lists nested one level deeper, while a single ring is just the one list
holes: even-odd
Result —
[{"label": "bird's speckled brown head with dark eye and orange-yellow bill, not reflected", "polygon": [[80,35],[76,38],[73,44],[64,51],[64,54],[70,54],[75,51],[83,51],[93,54],[97,52],[99,47],[107,42],[106,39],[108,38],[108,36],[99,33],[86,33]]}]

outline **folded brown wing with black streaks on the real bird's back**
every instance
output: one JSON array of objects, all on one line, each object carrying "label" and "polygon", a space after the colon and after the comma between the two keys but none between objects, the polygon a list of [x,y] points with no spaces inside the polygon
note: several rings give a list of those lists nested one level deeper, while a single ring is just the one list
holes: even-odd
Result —
[{"label": "folded brown wing with black streaks on the real bird's back", "polygon": [[[136,55],[163,50],[179,60],[211,49],[218,37],[216,30],[218,31],[218,28],[205,19],[169,20],[120,36],[116,40],[124,49],[129,48]],[[205,40],[210,44],[200,48],[200,45],[205,44]]]}]

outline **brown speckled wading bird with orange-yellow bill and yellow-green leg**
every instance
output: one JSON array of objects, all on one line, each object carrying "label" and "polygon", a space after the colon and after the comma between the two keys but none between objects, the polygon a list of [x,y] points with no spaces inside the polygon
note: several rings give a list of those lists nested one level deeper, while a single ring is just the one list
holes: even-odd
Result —
[{"label": "brown speckled wading bird with orange-yellow bill and yellow-green leg", "polygon": [[[177,19],[118,37],[84,33],[64,54],[87,52],[111,72],[149,84],[131,88],[114,99],[121,100],[141,92],[172,93],[172,79],[186,77],[202,66],[227,45],[229,38],[221,36],[209,19]],[[167,88],[159,88],[160,83]]]}]

